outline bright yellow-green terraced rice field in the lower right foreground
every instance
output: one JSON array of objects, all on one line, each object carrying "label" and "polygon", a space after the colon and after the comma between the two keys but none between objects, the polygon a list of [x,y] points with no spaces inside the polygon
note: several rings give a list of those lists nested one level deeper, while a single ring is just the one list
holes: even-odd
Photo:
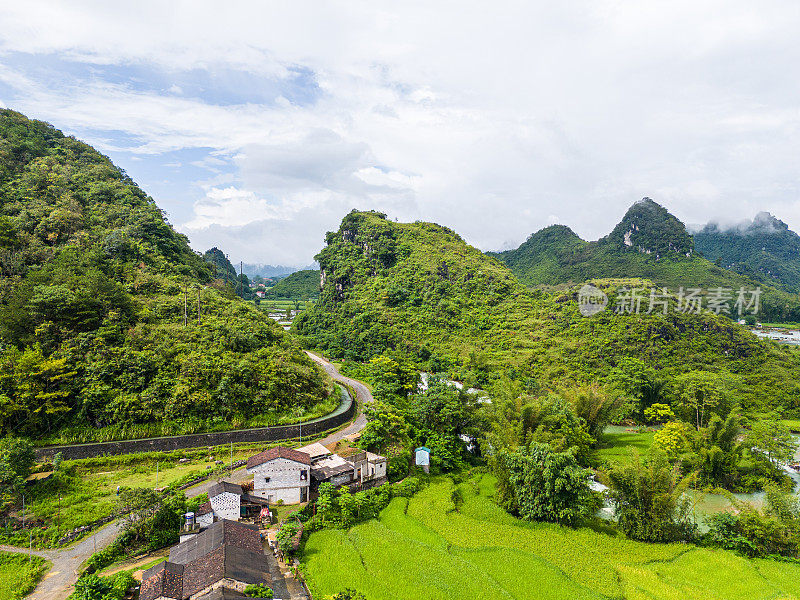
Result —
[{"label": "bright yellow-green terraced rice field in the lower right foreground", "polygon": [[494,504],[490,476],[458,486],[458,507],[455,488],[434,480],[379,519],[313,533],[303,564],[314,597],[349,587],[370,600],[798,598],[800,565],[520,521]]}]

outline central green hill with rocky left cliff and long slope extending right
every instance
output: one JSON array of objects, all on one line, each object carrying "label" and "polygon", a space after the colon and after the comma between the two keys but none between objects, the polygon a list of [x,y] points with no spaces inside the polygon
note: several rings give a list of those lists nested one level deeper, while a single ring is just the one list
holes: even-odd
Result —
[{"label": "central green hill with rocky left cliff and long slope extending right", "polygon": [[582,317],[576,290],[531,291],[439,225],[354,211],[326,244],[316,257],[320,300],[294,329],[335,358],[388,351],[462,381],[490,386],[506,375],[537,390],[603,382],[636,363],[667,381],[713,372],[750,408],[789,408],[800,395],[797,353],[727,317],[610,310]]}]

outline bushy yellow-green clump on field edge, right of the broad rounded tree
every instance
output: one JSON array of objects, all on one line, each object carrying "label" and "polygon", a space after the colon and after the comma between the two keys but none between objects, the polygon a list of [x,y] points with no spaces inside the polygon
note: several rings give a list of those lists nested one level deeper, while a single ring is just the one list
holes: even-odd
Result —
[{"label": "bushy yellow-green clump on field edge, right of the broad rounded tree", "polygon": [[690,539],[696,526],[689,519],[683,493],[695,476],[681,477],[658,449],[642,461],[633,451],[627,464],[618,465],[603,477],[610,488],[619,527],[628,537],[645,542]]}]

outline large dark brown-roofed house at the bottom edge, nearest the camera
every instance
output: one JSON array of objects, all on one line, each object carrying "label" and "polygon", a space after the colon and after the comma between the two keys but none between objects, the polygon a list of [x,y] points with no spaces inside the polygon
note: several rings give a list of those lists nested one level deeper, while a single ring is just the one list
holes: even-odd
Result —
[{"label": "large dark brown-roofed house at the bottom edge, nearest the camera", "polygon": [[287,597],[283,582],[270,575],[258,528],[221,520],[145,571],[139,599],[223,600],[241,597],[248,585],[257,584],[271,587],[276,598]]}]

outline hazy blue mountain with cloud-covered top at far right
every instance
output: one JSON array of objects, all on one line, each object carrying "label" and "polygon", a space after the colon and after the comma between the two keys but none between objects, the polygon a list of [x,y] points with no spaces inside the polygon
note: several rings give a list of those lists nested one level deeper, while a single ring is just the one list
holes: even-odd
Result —
[{"label": "hazy blue mountain with cloud-covered top at far right", "polygon": [[726,269],[790,292],[800,292],[800,236],[767,212],[723,228],[709,223],[694,234],[695,247]]}]

